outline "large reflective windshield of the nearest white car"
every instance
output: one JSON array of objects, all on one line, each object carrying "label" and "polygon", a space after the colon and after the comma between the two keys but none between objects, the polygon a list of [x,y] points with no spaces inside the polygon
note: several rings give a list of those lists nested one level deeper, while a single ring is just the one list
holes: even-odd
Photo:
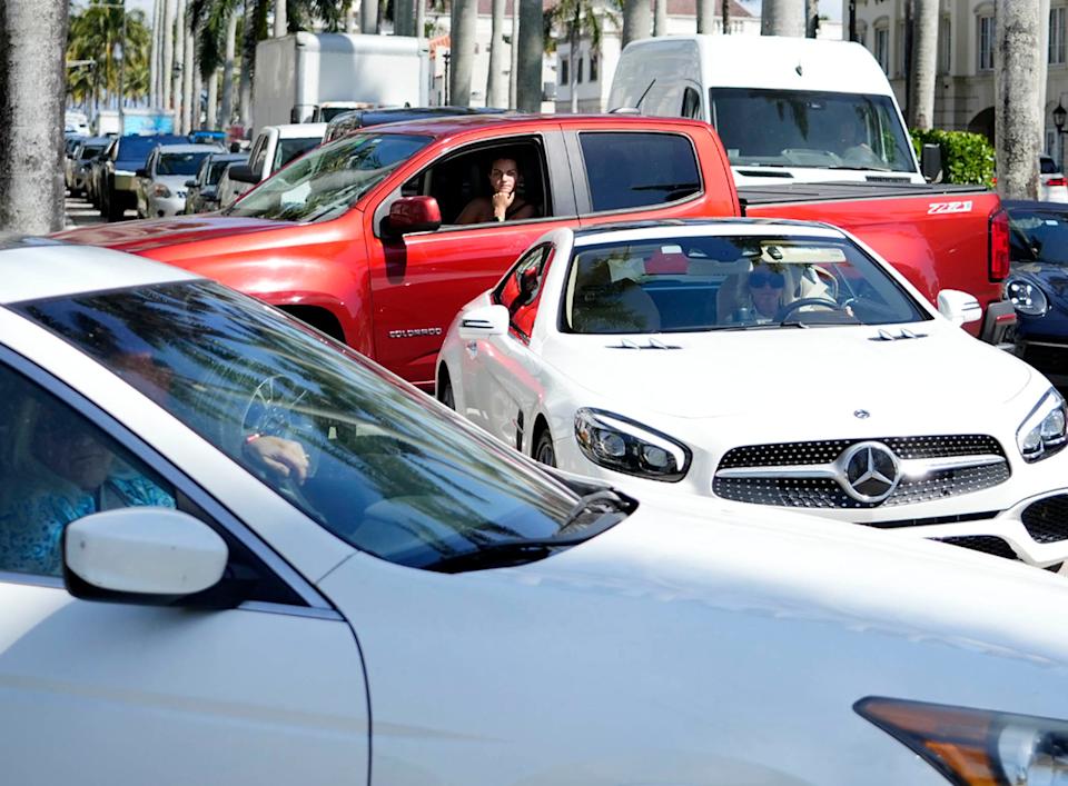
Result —
[{"label": "large reflective windshield of the nearest white car", "polygon": [[[434,568],[552,538],[577,495],[415,388],[214,282],[19,310],[126,379],[337,537]],[[248,438],[296,440],[303,484],[259,472]]]}]

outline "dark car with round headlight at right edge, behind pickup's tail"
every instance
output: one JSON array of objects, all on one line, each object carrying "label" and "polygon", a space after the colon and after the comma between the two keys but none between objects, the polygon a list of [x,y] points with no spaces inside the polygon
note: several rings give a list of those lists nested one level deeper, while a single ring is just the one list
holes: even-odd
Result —
[{"label": "dark car with round headlight at right edge, behind pickup's tail", "polygon": [[1007,200],[1020,357],[1068,388],[1068,205]]}]

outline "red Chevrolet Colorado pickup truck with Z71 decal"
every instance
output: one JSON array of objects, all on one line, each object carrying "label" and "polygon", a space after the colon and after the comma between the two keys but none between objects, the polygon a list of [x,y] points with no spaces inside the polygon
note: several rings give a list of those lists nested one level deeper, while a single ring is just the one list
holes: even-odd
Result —
[{"label": "red Chevrolet Colorado pickup truck with Z71 decal", "polygon": [[[456,225],[514,159],[534,216]],[[983,338],[1001,301],[1008,223],[995,193],[960,187],[767,188],[739,199],[708,123],[627,116],[479,116],[376,127],[324,145],[222,213],[61,232],[177,265],[280,306],[431,389],[443,334],[542,233],[633,219],[783,217],[852,231],[932,300],[977,297]],[[837,190],[835,190],[837,189]],[[850,196],[852,195],[852,196]],[[743,205],[744,210],[743,210]],[[1003,315],[1007,315],[1003,316]],[[977,324],[979,325],[979,324]]]}]

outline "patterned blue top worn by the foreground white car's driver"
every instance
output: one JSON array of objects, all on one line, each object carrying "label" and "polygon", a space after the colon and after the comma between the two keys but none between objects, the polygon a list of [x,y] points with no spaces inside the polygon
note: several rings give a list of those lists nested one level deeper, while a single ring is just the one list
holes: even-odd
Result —
[{"label": "patterned blue top worn by the foreground white car's driver", "polygon": [[[61,576],[59,539],[71,521],[112,508],[138,505],[174,508],[175,499],[145,476],[122,469],[112,472],[96,491],[52,475],[51,482],[30,482],[0,513],[0,570]],[[40,475],[34,472],[37,479]]]}]

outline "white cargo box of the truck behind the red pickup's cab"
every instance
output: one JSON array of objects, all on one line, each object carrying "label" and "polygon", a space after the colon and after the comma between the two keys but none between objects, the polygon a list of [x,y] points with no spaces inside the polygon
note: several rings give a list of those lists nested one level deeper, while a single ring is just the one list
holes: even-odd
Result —
[{"label": "white cargo box of the truck behind the red pickup's cab", "polygon": [[425,38],[290,33],[256,46],[253,118],[257,127],[305,122],[332,101],[425,107],[429,86]]}]

